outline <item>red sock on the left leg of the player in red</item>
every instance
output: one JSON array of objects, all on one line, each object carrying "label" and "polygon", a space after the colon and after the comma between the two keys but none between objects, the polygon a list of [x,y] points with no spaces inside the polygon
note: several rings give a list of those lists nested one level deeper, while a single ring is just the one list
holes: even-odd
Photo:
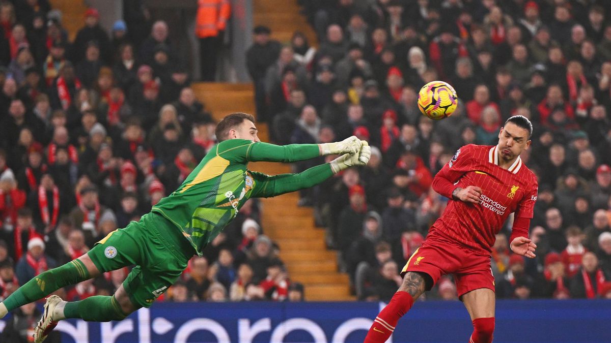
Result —
[{"label": "red sock on the left leg of the player in red", "polygon": [[399,319],[409,311],[412,305],[414,305],[414,298],[411,294],[403,291],[395,293],[388,305],[373,320],[373,325],[369,328],[363,343],[386,342],[392,331],[395,331]]}]

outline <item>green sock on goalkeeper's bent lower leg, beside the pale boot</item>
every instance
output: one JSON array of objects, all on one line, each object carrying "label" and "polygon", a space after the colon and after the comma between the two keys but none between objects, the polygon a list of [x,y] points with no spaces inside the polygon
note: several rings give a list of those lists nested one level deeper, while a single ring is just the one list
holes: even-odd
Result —
[{"label": "green sock on goalkeeper's bent lower leg, beside the pale boot", "polygon": [[95,295],[81,301],[66,303],[64,316],[81,318],[86,322],[110,322],[111,320],[123,320],[127,314],[123,313],[114,295],[111,297]]}]

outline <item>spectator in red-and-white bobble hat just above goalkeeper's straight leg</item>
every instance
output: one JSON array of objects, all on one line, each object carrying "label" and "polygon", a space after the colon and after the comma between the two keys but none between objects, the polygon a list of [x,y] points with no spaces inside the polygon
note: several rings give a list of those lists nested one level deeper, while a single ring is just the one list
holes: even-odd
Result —
[{"label": "spectator in red-and-white bobble hat just above goalkeeper's straight leg", "polygon": [[45,242],[42,238],[34,237],[27,242],[27,253],[17,262],[15,272],[19,284],[23,286],[34,276],[53,269],[56,265],[54,259],[45,255]]}]

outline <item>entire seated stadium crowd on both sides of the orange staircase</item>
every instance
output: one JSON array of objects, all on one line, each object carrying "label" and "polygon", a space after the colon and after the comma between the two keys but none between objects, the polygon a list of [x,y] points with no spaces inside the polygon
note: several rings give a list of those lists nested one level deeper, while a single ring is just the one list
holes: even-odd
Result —
[{"label": "entire seated stadium crowd on both sides of the orange staircase", "polygon": [[[497,295],[611,297],[611,13],[601,1],[301,2],[318,49],[300,32],[283,46],[267,27],[254,29],[247,67],[257,118],[279,144],[355,134],[375,146],[367,167],[300,201],[315,208],[360,299],[396,291],[399,267],[447,201],[431,190],[435,173],[462,145],[494,144],[514,114],[535,125],[522,159],[540,178],[531,228],[539,247],[534,260],[511,255],[511,226],[503,228],[492,250]],[[70,41],[48,1],[0,2],[2,298],[148,212],[215,143],[169,27],[133,3],[111,32],[87,10]],[[439,122],[415,104],[436,79],[460,98]],[[302,300],[261,211],[249,201],[158,300]],[[128,272],[60,293],[112,294]],[[429,298],[455,292],[444,278]]]}]

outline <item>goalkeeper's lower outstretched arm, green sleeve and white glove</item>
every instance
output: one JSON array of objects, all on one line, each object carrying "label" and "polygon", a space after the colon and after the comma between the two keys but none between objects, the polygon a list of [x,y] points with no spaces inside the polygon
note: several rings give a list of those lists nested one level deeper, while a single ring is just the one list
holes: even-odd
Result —
[{"label": "goalkeeper's lower outstretched arm, green sleeve and white glove", "polygon": [[346,168],[366,165],[370,156],[371,148],[367,145],[367,142],[362,141],[362,148],[360,148],[359,153],[345,154],[329,163],[316,165],[301,173],[269,176],[253,171],[252,176],[257,182],[257,186],[253,190],[252,197],[276,197],[276,195],[316,186]]}]

